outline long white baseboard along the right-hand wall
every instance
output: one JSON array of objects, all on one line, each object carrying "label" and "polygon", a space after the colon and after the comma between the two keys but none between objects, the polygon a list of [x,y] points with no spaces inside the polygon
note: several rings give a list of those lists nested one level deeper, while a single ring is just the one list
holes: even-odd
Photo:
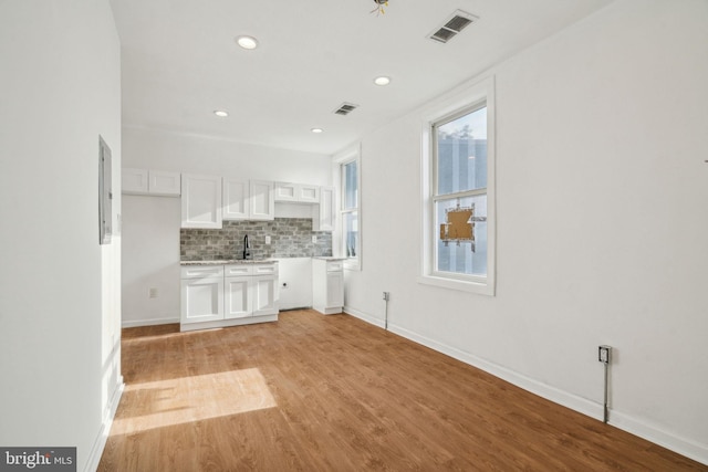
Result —
[{"label": "long white baseboard along the right-hand wall", "polygon": [[[357,310],[345,307],[344,312],[375,326],[384,327],[383,319],[367,315]],[[421,336],[400,326],[389,324],[388,331],[415,343],[421,344],[423,346],[429,347],[430,349],[458,359],[465,364],[469,364],[473,367],[485,370],[486,373],[489,373],[494,377],[499,377],[502,380],[513,384],[514,386],[520,387],[533,395],[545,398],[546,400],[553,401],[554,403],[562,405],[563,407],[586,415],[598,421],[603,420],[603,406],[600,403],[558,389],[550,385],[540,382],[517,371],[502,367],[498,364],[461,352],[455,347],[438,343],[434,339]],[[646,439],[647,441],[693,459],[694,461],[708,465],[708,447],[706,447],[705,444],[698,444],[691,440],[663,431],[656,427],[646,424],[637,420],[636,418],[618,412],[616,410],[610,410],[608,423],[624,431],[627,431],[628,433],[637,436],[642,439]]]}]

